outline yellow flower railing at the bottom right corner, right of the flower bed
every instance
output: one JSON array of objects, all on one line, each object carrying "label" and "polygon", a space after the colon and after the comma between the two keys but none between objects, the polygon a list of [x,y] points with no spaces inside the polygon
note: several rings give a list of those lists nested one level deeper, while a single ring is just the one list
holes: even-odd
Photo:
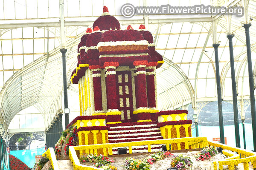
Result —
[{"label": "yellow flower railing at the bottom right corner, right of the flower bed", "polygon": [[[230,147],[225,144],[221,144],[218,142],[208,142],[210,146],[221,147],[224,149],[224,155],[231,156],[228,159],[214,161],[213,167],[214,170],[223,170],[223,165],[228,165],[229,170],[233,170],[235,165],[244,164],[244,170],[249,170],[249,162],[253,163],[253,168],[256,168],[256,153],[250,150],[245,150],[238,147]],[[230,150],[232,152],[236,152],[238,156],[233,155],[232,153],[227,153],[225,150]],[[241,158],[240,158],[241,156]]]}]

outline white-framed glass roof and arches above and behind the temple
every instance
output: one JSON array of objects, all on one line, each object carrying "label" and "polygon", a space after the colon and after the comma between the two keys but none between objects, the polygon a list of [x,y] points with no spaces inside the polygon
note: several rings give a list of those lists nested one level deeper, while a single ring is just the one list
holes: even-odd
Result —
[{"label": "white-framed glass roof and arches above and behind the temple", "polygon": [[[227,1],[240,6],[240,1]],[[134,6],[194,6],[196,4],[224,6],[225,0],[64,0],[64,17],[67,44],[67,79],[69,101],[78,94],[76,85],[70,84],[70,74],[76,67],[77,45],[87,27],[108,6],[122,29],[134,29],[145,24],[143,15],[126,19],[120,14],[125,3]],[[256,20],[256,1],[250,0],[249,18]],[[20,111],[34,107],[41,113],[47,127],[62,100],[62,58],[59,0],[0,0],[0,90],[1,117],[9,126]],[[224,100],[232,99],[229,46],[226,37],[227,16],[218,18],[217,41],[221,88]],[[215,18],[215,19],[216,19]],[[250,27],[254,79],[256,75],[256,26]],[[176,109],[200,101],[217,100],[215,83],[215,56],[212,48],[210,16],[148,15],[156,50],[165,63],[157,69],[158,108]],[[249,99],[247,56],[244,17],[232,16],[233,50],[238,99]],[[210,32],[210,33],[209,33]],[[225,87],[228,88],[225,88]],[[72,101],[72,100],[71,100]],[[71,113],[78,115],[78,105],[71,103]],[[14,121],[14,120],[13,120]]]}]

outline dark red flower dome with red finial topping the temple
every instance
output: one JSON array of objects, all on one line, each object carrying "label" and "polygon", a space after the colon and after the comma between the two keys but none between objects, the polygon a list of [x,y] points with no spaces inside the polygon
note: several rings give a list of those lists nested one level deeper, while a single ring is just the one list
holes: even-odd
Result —
[{"label": "dark red flower dome with red finial topping the temple", "polygon": [[116,20],[115,17],[109,15],[108,8],[106,6],[103,7],[102,16],[93,23],[93,28],[96,26],[98,26],[100,30],[120,29],[119,21]]}]

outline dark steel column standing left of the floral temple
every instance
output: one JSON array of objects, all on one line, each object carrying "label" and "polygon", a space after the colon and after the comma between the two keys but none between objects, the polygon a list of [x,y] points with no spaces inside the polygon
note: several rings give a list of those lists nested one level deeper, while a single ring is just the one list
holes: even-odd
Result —
[{"label": "dark steel column standing left of the floral temple", "polygon": [[[64,88],[64,108],[68,108],[67,102],[67,69],[66,69],[66,52],[67,49],[61,49],[62,68],[63,68],[63,88]],[[69,113],[65,113],[65,126],[69,124]]]}]

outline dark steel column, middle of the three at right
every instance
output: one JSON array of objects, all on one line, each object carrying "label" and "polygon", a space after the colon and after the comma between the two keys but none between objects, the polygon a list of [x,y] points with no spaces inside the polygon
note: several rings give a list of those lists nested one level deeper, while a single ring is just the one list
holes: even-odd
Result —
[{"label": "dark steel column, middle of the three at right", "polygon": [[239,120],[238,120],[238,109],[237,109],[237,94],[236,94],[236,77],[235,77],[235,66],[234,66],[234,54],[233,54],[233,34],[228,34],[230,49],[230,70],[231,70],[231,82],[232,82],[232,96],[233,96],[233,111],[234,111],[234,124],[235,124],[235,136],[236,136],[236,147],[240,147],[240,135],[239,135]]}]

